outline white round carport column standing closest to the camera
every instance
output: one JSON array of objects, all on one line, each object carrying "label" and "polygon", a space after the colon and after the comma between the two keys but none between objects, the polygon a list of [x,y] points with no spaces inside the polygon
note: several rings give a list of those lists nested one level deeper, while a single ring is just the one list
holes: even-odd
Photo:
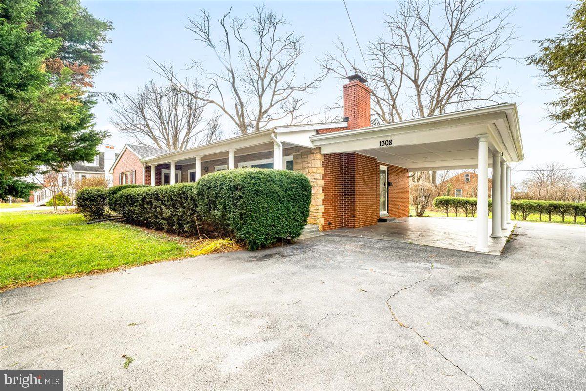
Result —
[{"label": "white round carport column standing closest to the camera", "polygon": [[488,253],[488,135],[478,138],[478,189],[476,189],[476,251]]}]

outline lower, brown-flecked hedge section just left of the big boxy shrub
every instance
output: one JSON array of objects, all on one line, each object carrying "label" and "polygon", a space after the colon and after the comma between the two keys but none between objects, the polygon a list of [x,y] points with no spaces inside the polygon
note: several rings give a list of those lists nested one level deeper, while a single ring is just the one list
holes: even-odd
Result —
[{"label": "lower, brown-flecked hedge section just left of the big boxy shrub", "polygon": [[196,234],[195,183],[129,186],[115,193],[116,211],[131,224],[179,234]]}]

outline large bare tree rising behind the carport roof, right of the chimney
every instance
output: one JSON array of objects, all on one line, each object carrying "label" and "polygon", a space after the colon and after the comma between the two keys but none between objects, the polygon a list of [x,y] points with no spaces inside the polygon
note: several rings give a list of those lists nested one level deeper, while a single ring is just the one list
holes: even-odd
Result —
[{"label": "large bare tree rising behind the carport roof, right of the chimney", "polygon": [[[510,57],[510,10],[481,15],[482,1],[403,1],[386,15],[387,32],[370,40],[364,66],[342,42],[321,61],[328,71],[369,80],[372,108],[384,123],[429,117],[512,95],[489,72]],[[491,85],[492,84],[492,85]],[[430,180],[434,180],[432,173]],[[433,181],[435,184],[435,181]]]}]

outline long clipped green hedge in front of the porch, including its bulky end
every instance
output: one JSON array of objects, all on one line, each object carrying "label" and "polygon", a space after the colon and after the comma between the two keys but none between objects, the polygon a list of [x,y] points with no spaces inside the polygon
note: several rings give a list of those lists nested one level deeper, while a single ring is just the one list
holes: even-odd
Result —
[{"label": "long clipped green hedge in front of the porch, including its bulky end", "polygon": [[243,168],[213,172],[197,183],[113,186],[107,200],[128,223],[179,234],[202,229],[255,250],[301,234],[311,184],[299,172]]}]

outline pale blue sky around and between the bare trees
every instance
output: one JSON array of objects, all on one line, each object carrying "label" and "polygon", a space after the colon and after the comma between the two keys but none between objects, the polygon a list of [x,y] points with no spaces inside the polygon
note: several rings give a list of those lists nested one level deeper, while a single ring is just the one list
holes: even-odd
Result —
[{"label": "pale blue sky around and between the bare trees", "polygon": [[[152,70],[149,57],[158,62],[171,62],[176,67],[185,67],[191,60],[208,60],[202,45],[193,40],[193,33],[185,29],[186,17],[197,16],[202,9],[217,19],[223,12],[233,7],[233,13],[245,16],[253,11],[259,2],[230,1],[83,1],[84,6],[101,19],[113,22],[114,30],[109,33],[112,43],[105,47],[104,69],[94,80],[96,90],[123,94],[134,92],[139,86],[151,79],[160,80]],[[291,23],[291,29],[304,35],[305,55],[298,72],[311,76],[318,72],[315,59],[324,52],[333,50],[333,42],[342,39],[347,46],[357,50],[350,23],[342,1],[296,1],[271,2],[264,4],[281,12]],[[356,29],[360,45],[366,47],[369,39],[384,33],[381,20],[385,13],[393,13],[395,2],[347,1],[347,7]],[[536,39],[549,38],[561,31],[568,19],[567,6],[564,1],[491,1],[484,5],[486,12],[513,7],[512,23],[518,30],[517,39],[511,49],[511,55],[526,57],[537,50]],[[355,54],[358,52],[356,51]],[[197,76],[197,75],[193,75]],[[493,77],[500,82],[508,81],[510,86],[519,91],[519,96],[512,98],[519,106],[519,118],[525,152],[525,160],[515,164],[513,182],[522,180],[526,171],[545,162],[557,161],[567,167],[582,166],[571,147],[568,146],[570,135],[556,134],[548,131],[551,127],[545,118],[547,101],[554,94],[539,87],[536,69],[514,61],[503,62],[502,68]],[[311,107],[319,108],[331,105],[341,98],[342,83],[335,77],[327,79],[318,93],[309,98]],[[118,134],[110,124],[111,106],[98,103],[94,110],[96,124],[100,129],[112,134],[110,140],[120,149],[127,140]],[[224,137],[233,135],[233,129],[226,123]],[[586,175],[586,169],[574,170],[577,176]]]}]

